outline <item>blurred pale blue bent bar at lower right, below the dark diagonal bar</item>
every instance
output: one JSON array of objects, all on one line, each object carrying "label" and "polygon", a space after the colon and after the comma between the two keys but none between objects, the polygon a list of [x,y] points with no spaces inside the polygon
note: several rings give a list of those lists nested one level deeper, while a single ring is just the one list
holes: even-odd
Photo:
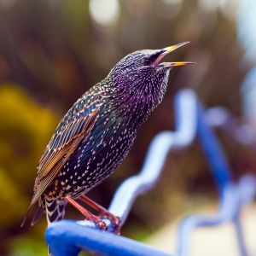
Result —
[{"label": "blurred pale blue bent bar at lower right, below the dark diagonal bar", "polygon": [[188,256],[190,251],[189,241],[193,231],[198,227],[210,227],[227,222],[233,222],[241,255],[247,255],[247,250],[242,236],[239,212],[245,204],[253,202],[256,195],[256,179],[252,175],[241,177],[238,184],[230,183],[224,189],[219,210],[212,215],[196,214],[184,218],[179,225],[177,240],[177,255]]}]

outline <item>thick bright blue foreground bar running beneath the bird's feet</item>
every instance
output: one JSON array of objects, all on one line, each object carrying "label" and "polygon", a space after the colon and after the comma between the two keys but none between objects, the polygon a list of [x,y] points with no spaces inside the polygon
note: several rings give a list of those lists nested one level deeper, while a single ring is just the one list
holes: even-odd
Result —
[{"label": "thick bright blue foreground bar running beneath the bird's feet", "polygon": [[80,249],[112,256],[172,256],[124,236],[84,227],[67,220],[51,224],[46,232],[46,241],[55,256],[77,255]]}]

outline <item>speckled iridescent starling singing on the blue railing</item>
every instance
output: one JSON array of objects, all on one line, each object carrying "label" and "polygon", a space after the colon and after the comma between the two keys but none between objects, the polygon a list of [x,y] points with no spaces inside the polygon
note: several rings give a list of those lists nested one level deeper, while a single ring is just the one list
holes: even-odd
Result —
[{"label": "speckled iridescent starling singing on the blue railing", "polygon": [[[73,104],[39,160],[32,201],[21,226],[33,207],[38,209],[32,225],[43,213],[48,224],[61,220],[67,203],[102,230],[106,229],[102,217],[119,225],[118,216],[91,201],[86,193],[113,173],[130,152],[137,131],[163,100],[172,68],[195,63],[160,62],[188,43],[126,55]],[[99,214],[92,214],[78,201]]]}]

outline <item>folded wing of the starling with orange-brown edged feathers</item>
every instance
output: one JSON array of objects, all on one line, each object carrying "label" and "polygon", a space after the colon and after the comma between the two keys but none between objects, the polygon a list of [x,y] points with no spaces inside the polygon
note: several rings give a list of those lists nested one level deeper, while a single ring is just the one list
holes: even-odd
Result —
[{"label": "folded wing of the starling with orange-brown edged feathers", "polygon": [[73,119],[66,120],[60,124],[61,126],[58,126],[60,129],[57,128],[55,135],[51,138],[49,145],[45,148],[44,154],[39,160],[38,176],[35,181],[31,205],[38,201],[79,143],[90,135],[90,131],[99,115],[99,108],[91,108],[92,106],[95,107],[96,105],[90,105],[90,108],[87,108],[85,112],[87,114],[79,116],[79,113],[76,113]]}]

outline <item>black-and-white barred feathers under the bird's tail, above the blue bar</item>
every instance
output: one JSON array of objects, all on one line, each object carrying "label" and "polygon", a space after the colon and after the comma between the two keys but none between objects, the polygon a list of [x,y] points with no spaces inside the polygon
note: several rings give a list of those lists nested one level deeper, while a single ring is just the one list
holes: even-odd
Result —
[{"label": "black-and-white barred feathers under the bird's tail, above the blue bar", "polygon": [[45,201],[45,211],[48,224],[64,218],[66,204],[67,203],[65,201]]}]

